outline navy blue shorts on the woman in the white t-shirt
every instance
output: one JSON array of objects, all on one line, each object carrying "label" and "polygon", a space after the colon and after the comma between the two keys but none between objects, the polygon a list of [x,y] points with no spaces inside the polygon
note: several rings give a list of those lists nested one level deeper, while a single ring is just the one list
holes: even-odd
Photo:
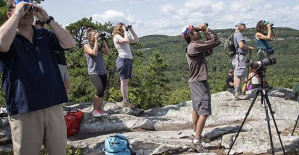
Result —
[{"label": "navy blue shorts on the woman in the white t-shirt", "polygon": [[130,79],[132,78],[132,60],[122,57],[117,57],[116,68],[121,79]]}]

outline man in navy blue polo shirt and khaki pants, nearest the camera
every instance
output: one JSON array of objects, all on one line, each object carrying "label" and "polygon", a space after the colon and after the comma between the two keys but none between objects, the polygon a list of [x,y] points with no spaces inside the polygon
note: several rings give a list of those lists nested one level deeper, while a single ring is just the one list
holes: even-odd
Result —
[{"label": "man in navy blue polo shirt and khaki pants, nearest the camera", "polygon": [[[32,6],[37,9],[32,9]],[[66,154],[61,104],[67,93],[54,52],[73,47],[73,37],[28,0],[7,1],[8,20],[0,27],[0,71],[15,155]],[[34,15],[53,31],[32,26]]]}]

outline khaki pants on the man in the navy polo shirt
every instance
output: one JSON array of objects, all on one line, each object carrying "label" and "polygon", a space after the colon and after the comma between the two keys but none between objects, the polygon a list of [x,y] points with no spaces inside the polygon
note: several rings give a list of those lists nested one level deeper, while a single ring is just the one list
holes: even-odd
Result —
[{"label": "khaki pants on the man in the navy polo shirt", "polygon": [[14,155],[40,155],[42,145],[47,154],[65,155],[67,127],[62,105],[9,116]]}]

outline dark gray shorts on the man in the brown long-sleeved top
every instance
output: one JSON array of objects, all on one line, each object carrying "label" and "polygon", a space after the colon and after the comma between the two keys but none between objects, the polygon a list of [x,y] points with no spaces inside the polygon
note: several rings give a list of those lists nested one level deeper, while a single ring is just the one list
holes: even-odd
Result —
[{"label": "dark gray shorts on the man in the brown long-sleeved top", "polygon": [[211,115],[211,95],[208,81],[189,82],[193,111],[197,115]]}]

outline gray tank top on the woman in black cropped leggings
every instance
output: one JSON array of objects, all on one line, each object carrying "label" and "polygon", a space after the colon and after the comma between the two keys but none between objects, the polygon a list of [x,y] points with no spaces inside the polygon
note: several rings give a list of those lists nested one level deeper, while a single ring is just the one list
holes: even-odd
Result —
[{"label": "gray tank top on the woman in black cropped leggings", "polygon": [[[91,43],[88,43],[90,48],[93,49],[93,45]],[[105,61],[103,58],[102,51],[100,50],[101,46],[99,45],[99,51],[97,56],[91,56],[87,53],[85,53],[86,61],[87,61],[87,69],[88,69],[88,75],[92,74],[98,74],[98,75],[105,75],[106,67],[105,67]]]}]

